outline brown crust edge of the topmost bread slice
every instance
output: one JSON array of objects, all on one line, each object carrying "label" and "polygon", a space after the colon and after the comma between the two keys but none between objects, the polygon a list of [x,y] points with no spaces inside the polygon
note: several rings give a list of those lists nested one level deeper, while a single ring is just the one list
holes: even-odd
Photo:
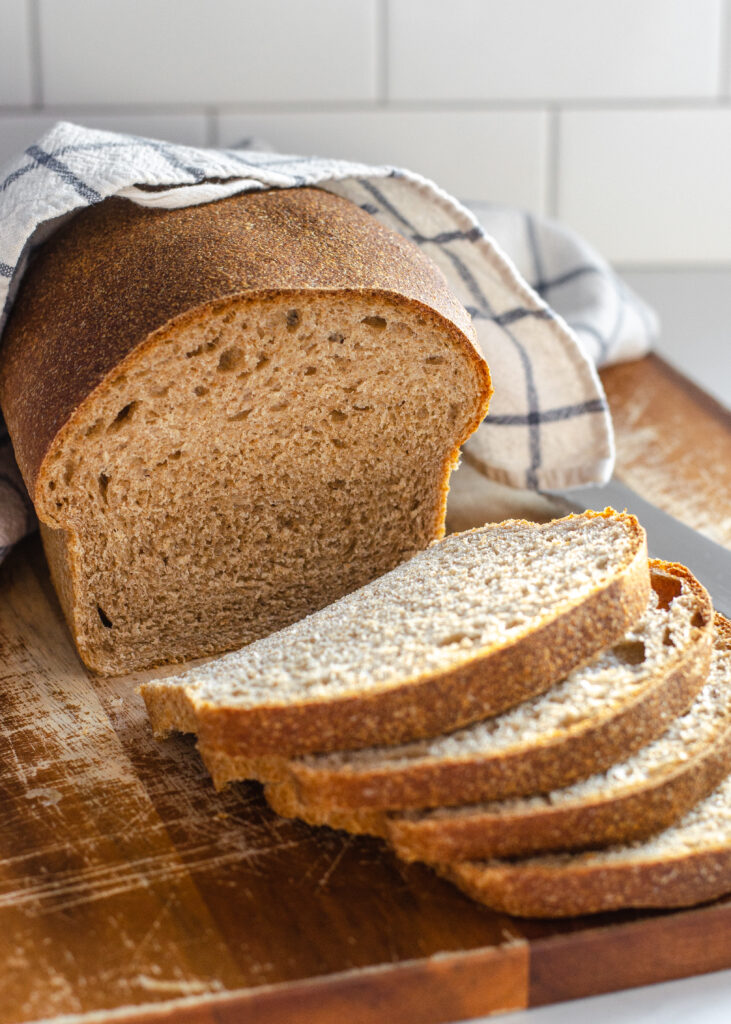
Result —
[{"label": "brown crust edge of the topmost bread slice", "polygon": [[[635,541],[633,556],[589,597],[548,616],[509,644],[472,654],[449,672],[404,681],[391,689],[296,706],[220,708],[187,696],[182,686],[144,684],[141,693],[153,727],[165,735],[195,723],[204,758],[209,750],[217,752],[219,762],[228,755],[235,771],[235,759],[242,756],[292,758],[438,735],[542,693],[597,650],[618,640],[649,597],[647,544],[637,519],[611,509],[584,515],[622,518]],[[181,708],[184,702],[185,710]],[[305,788],[307,782],[303,784],[299,774],[298,783],[308,801],[316,799],[316,786]],[[335,785],[337,791],[328,795],[333,806],[369,806],[359,787],[348,805],[341,797],[349,792],[348,783],[336,781]]]}]

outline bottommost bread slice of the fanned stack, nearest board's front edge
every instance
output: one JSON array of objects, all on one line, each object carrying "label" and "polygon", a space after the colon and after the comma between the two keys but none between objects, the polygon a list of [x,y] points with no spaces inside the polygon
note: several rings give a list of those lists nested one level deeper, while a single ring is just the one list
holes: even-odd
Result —
[{"label": "bottommost bread slice of the fanned stack, nearest board's front edge", "polygon": [[[717,658],[726,660],[728,687],[727,621],[719,635]],[[715,899],[731,892],[731,776],[677,824],[645,841],[527,860],[456,861],[437,870],[481,903],[518,916],[563,918]]]}]

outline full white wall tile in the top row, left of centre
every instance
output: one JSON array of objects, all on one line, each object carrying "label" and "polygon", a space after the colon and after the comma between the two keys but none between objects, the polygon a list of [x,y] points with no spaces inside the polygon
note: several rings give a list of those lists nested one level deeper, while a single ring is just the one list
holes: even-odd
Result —
[{"label": "full white wall tile in the top row, left of centre", "polygon": [[377,0],[40,0],[48,103],[376,95]]}]

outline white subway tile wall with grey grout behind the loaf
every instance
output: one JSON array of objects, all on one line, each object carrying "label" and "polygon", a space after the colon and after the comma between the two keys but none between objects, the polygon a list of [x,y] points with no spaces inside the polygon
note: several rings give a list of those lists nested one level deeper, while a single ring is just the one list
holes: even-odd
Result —
[{"label": "white subway tile wall with grey grout behind the loaf", "polygon": [[60,117],[403,165],[615,260],[731,262],[731,0],[0,0],[0,162]]}]

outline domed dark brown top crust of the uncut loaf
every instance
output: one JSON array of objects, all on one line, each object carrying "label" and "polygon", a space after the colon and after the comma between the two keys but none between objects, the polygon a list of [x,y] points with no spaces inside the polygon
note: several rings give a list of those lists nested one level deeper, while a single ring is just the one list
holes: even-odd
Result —
[{"label": "domed dark brown top crust of the uncut loaf", "polygon": [[175,210],[107,199],[46,242],[0,350],[0,404],[29,490],[54,438],[153,332],[235,295],[374,292],[431,310],[489,376],[467,311],[421,250],[318,188],[244,193]]}]

